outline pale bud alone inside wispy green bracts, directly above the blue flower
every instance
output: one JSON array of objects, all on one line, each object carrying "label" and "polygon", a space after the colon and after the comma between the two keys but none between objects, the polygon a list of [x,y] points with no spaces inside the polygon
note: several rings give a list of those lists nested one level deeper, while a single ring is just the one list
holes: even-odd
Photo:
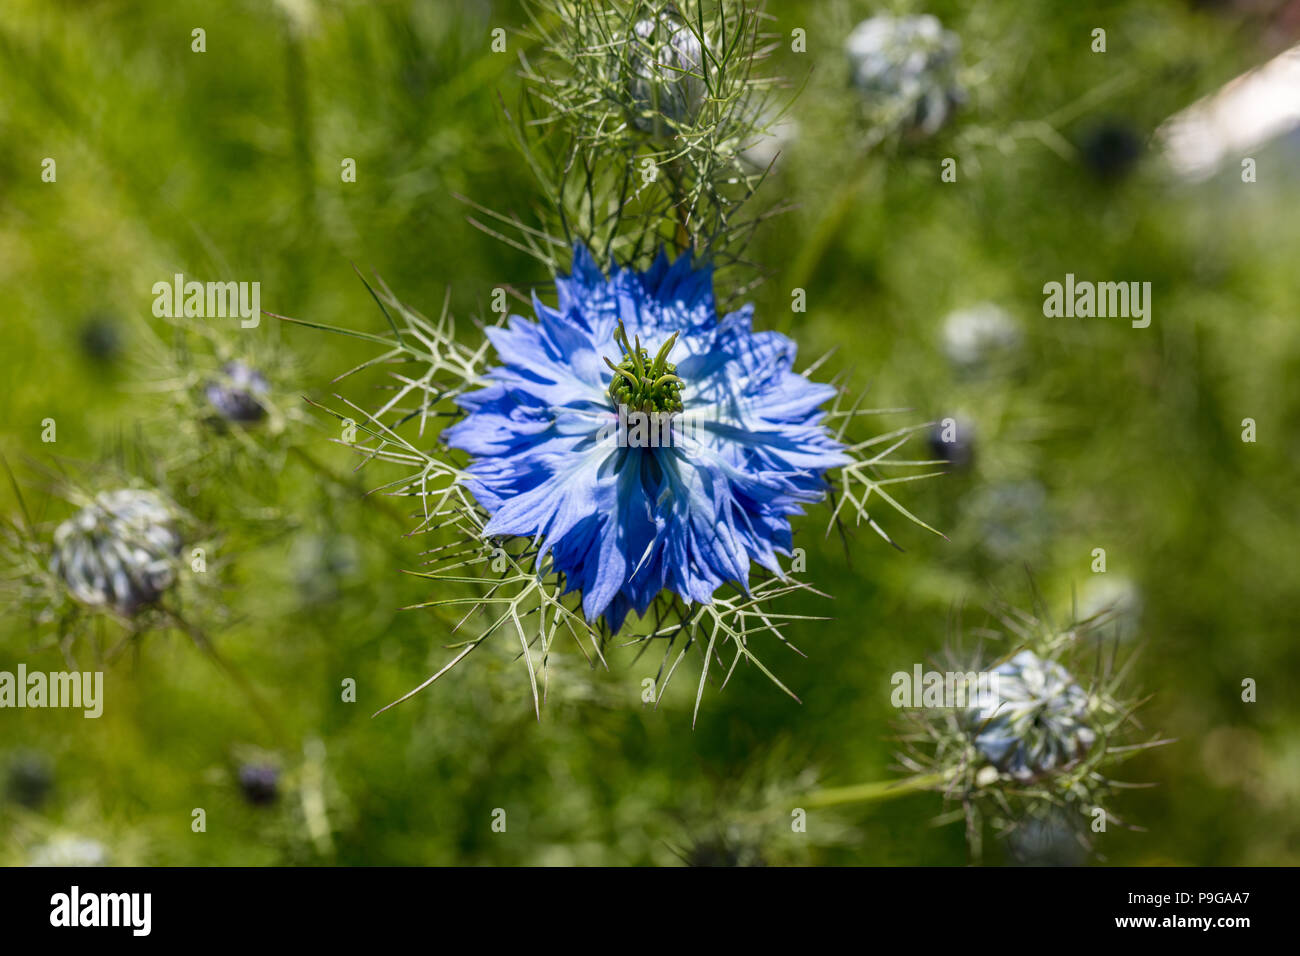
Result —
[{"label": "pale bud alone inside wispy green bracts, directly above the blue flower", "polygon": [[629,92],[636,105],[632,122],[644,133],[690,126],[699,116],[707,90],[703,78],[703,48],[696,33],[680,20],[658,14],[637,21],[638,43],[629,61]]}]

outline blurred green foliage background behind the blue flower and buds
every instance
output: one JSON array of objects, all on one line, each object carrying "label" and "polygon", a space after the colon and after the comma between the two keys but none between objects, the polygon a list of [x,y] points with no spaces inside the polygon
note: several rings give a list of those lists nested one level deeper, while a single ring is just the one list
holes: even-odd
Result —
[{"label": "blurred green foliage background behind the blue flower and buds", "polygon": [[[832,619],[792,632],[807,657],[764,659],[802,704],[742,667],[694,730],[698,670],[655,709],[642,680],[656,653],[615,649],[606,671],[572,646],[538,722],[504,641],[372,719],[447,659],[454,620],[398,610],[430,594],[400,574],[421,549],[403,507],[363,497],[391,475],[354,473],[303,401],[372,352],[270,317],[182,349],[151,313],[174,273],[256,280],[264,310],[374,333],[384,316],[354,263],[425,313],[450,294],[465,319],[497,285],[545,282],[455,198],[525,219],[537,204],[502,121],[528,52],[521,8],[5,7],[0,451],[46,522],[73,510],[49,470],[110,485],[182,462],[169,490],[221,572],[216,610],[191,613],[226,669],[179,631],[150,633],[104,665],[100,719],[0,713],[0,862],[962,865],[962,827],[932,826],[933,793],[812,810],[806,834],[789,808],[894,779],[889,675],[1035,592],[1062,622],[1119,607],[1143,723],[1176,737],[1124,766],[1156,784],[1114,808],[1144,829],[1113,827],[1093,861],[1300,862],[1300,139],[1283,129],[1192,179],[1157,137],[1300,43],[1295,4],[768,4],[780,43],[764,69],[802,91],[755,200],[796,207],[751,248],[768,267],[757,325],[805,359],[836,349],[822,375],[911,410],[887,427],[953,418],[963,441],[936,445],[949,475],[904,488],[946,540],[896,515],[901,551],[867,528],[845,546],[824,512],[798,525],[806,579],[833,601],[788,607]],[[845,38],[881,10],[932,13],[962,39],[965,101],[923,142],[876,143],[848,82]],[[946,157],[956,182],[940,179]],[[1043,286],[1066,273],[1150,282],[1150,326],[1045,317]],[[246,444],[186,427],[169,385],[178,362],[231,350],[269,356],[282,410]],[[18,510],[8,483],[3,502]],[[29,611],[0,622],[0,670],[62,669],[57,622]],[[78,641],[79,666],[98,666],[95,646]]]}]

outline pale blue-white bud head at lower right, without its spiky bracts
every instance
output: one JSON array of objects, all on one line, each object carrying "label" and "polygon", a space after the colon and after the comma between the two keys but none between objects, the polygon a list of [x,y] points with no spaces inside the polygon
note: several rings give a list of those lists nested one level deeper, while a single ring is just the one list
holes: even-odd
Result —
[{"label": "pale blue-white bud head at lower right, without its spiky bracts", "polygon": [[1088,692],[1060,663],[1020,650],[993,670],[997,701],[967,714],[975,748],[998,771],[1030,782],[1067,770],[1097,740]]}]

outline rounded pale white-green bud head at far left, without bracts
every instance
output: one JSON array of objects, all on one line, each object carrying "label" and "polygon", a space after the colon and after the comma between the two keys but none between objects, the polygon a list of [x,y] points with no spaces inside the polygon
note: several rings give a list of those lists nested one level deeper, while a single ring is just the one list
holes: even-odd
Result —
[{"label": "rounded pale white-green bud head at far left, without bracts", "polygon": [[55,529],[51,570],[77,601],[133,617],[176,581],[176,515],[156,492],[105,492]]}]

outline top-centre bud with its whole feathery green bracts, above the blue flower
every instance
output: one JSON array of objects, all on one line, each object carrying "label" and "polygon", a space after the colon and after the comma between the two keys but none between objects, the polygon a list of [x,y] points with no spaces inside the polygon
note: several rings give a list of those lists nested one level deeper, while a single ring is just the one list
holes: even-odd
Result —
[{"label": "top-centre bud with its whole feathery green bracts, above the blue flower", "polygon": [[[542,53],[524,70],[517,139],[551,209],[546,232],[602,263],[618,255],[640,267],[667,245],[707,248],[722,271],[736,264],[727,254],[754,225],[737,209],[767,168],[742,153],[781,112],[783,85],[763,72],[771,14],[744,0],[532,5]],[[550,274],[567,265],[564,245],[530,251]]]}]

